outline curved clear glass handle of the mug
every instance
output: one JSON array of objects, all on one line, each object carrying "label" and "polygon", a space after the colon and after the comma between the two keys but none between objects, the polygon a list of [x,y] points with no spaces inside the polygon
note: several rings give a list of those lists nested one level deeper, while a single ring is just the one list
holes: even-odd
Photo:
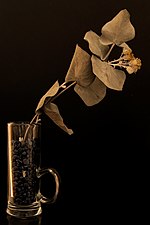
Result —
[{"label": "curved clear glass handle of the mug", "polygon": [[60,183],[60,179],[59,179],[59,174],[58,172],[53,169],[53,168],[44,168],[44,169],[39,169],[37,171],[37,178],[41,178],[43,175],[50,173],[55,180],[55,192],[54,195],[51,198],[45,197],[44,195],[42,195],[40,193],[40,202],[42,203],[54,203],[57,199],[58,193],[59,193],[59,183]]}]

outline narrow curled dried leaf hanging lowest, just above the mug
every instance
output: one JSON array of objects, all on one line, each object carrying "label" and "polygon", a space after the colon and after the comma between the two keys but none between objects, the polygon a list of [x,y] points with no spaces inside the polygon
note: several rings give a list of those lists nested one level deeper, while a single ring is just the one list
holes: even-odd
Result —
[{"label": "narrow curled dried leaf hanging lowest, just above the mug", "polygon": [[61,117],[57,105],[49,102],[43,107],[45,114],[62,130],[67,132],[69,135],[73,134],[72,129],[68,129],[67,126],[63,122],[63,118]]}]

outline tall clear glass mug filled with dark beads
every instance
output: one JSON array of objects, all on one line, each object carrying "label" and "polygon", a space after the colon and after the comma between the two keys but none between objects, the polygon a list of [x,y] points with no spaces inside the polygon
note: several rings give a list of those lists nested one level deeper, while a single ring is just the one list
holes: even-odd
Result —
[{"label": "tall clear glass mug filled with dark beads", "polygon": [[[41,124],[20,121],[7,123],[8,190],[6,212],[18,218],[42,213],[41,203],[54,203],[59,192],[59,174],[53,168],[41,169]],[[54,194],[40,192],[41,177],[50,173]],[[52,180],[51,180],[52,181]]]}]

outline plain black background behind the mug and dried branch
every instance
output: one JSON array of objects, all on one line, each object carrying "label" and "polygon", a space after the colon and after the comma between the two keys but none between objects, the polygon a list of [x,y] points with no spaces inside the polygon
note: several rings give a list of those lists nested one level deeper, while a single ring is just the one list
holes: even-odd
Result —
[{"label": "plain black background behind the mug and dried branch", "polygon": [[[56,103],[74,134],[42,117],[42,165],[54,167],[57,202],[42,205],[42,224],[130,221],[145,218],[150,136],[149,1],[0,0],[0,225],[7,224],[7,130],[31,120],[39,99],[64,81],[75,46],[89,30],[126,8],[136,30],[128,42],[142,68],[127,75],[122,92],[87,107],[68,90]],[[43,191],[51,188],[48,179]],[[95,222],[97,221],[97,222]]]}]

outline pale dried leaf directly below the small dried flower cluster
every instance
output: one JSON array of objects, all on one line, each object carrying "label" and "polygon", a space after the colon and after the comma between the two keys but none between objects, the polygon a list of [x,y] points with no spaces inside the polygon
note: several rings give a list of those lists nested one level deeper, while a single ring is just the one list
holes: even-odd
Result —
[{"label": "pale dried leaf directly below the small dried flower cluster", "polygon": [[108,87],[121,91],[126,79],[122,70],[114,69],[107,62],[102,62],[96,56],[92,56],[93,72]]}]

